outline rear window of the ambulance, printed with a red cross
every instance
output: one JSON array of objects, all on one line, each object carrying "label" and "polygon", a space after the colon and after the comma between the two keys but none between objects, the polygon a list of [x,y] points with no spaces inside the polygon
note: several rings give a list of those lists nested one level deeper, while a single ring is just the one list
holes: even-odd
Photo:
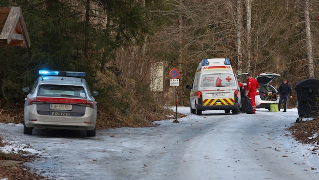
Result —
[{"label": "rear window of the ambulance, printed with a red cross", "polygon": [[205,74],[202,76],[201,87],[236,86],[232,74]]}]

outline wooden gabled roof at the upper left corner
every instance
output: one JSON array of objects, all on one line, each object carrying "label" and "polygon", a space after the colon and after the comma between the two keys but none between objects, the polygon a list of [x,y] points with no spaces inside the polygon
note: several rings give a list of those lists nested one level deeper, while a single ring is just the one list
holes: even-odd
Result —
[{"label": "wooden gabled roof at the upper left corner", "polygon": [[30,47],[30,39],[20,7],[0,9],[1,46]]}]

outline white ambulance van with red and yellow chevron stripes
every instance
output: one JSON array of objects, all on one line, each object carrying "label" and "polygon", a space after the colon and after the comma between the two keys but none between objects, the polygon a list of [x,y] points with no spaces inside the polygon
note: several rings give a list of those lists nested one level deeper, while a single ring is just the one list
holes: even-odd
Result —
[{"label": "white ambulance van with red and yellow chevron stripes", "polygon": [[190,89],[190,112],[202,115],[206,110],[224,110],[238,114],[241,92],[229,59],[204,59],[196,69]]}]

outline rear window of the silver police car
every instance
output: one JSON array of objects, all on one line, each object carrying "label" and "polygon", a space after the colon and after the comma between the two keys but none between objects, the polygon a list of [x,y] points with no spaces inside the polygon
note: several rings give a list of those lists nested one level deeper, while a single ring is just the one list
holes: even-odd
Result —
[{"label": "rear window of the silver police car", "polygon": [[37,96],[86,98],[85,90],[82,86],[54,84],[41,85]]}]

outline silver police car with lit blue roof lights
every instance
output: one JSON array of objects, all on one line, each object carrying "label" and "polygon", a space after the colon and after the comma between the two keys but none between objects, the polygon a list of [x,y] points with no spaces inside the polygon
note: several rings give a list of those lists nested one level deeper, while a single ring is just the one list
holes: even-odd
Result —
[{"label": "silver police car with lit blue roof lights", "polygon": [[84,79],[85,72],[39,70],[24,104],[24,134],[34,129],[85,130],[96,135],[97,102]]}]

